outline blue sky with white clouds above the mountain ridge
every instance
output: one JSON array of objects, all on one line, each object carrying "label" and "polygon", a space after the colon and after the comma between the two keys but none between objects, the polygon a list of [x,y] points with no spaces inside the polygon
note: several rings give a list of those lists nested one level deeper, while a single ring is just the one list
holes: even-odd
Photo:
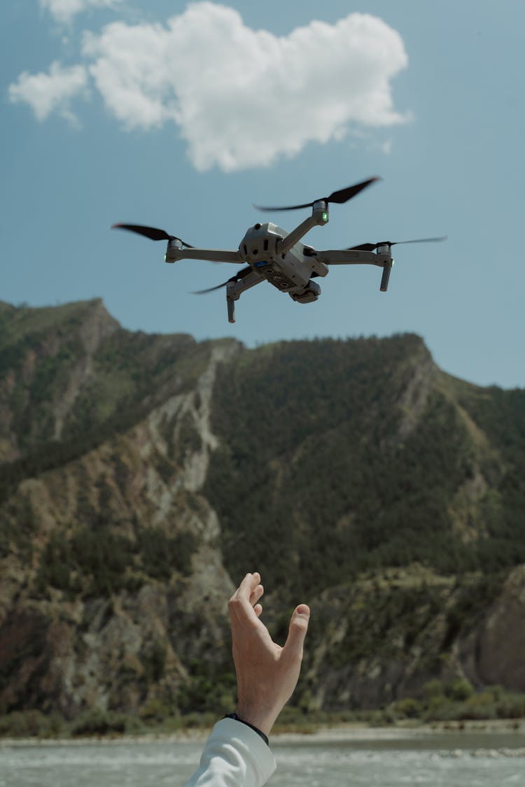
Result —
[{"label": "blue sky with white clouds above the mountain ridge", "polygon": [[[0,299],[102,297],[132,331],[281,339],[420,334],[445,371],[525,386],[523,0],[24,0],[0,5]],[[394,247],[337,266],[319,301],[268,283],[195,296],[237,268],[164,263],[161,227],[237,249],[309,202],[381,180],[304,241]]]}]

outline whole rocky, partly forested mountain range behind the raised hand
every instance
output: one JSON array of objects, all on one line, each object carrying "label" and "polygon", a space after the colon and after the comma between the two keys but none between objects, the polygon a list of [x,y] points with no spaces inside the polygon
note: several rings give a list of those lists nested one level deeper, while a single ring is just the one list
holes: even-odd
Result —
[{"label": "whole rocky, partly forested mountain range behind the raised hand", "polygon": [[525,391],[413,334],[246,349],[0,303],[0,462],[0,714],[231,709],[254,570],[276,637],[312,607],[304,710],[525,691]]}]

